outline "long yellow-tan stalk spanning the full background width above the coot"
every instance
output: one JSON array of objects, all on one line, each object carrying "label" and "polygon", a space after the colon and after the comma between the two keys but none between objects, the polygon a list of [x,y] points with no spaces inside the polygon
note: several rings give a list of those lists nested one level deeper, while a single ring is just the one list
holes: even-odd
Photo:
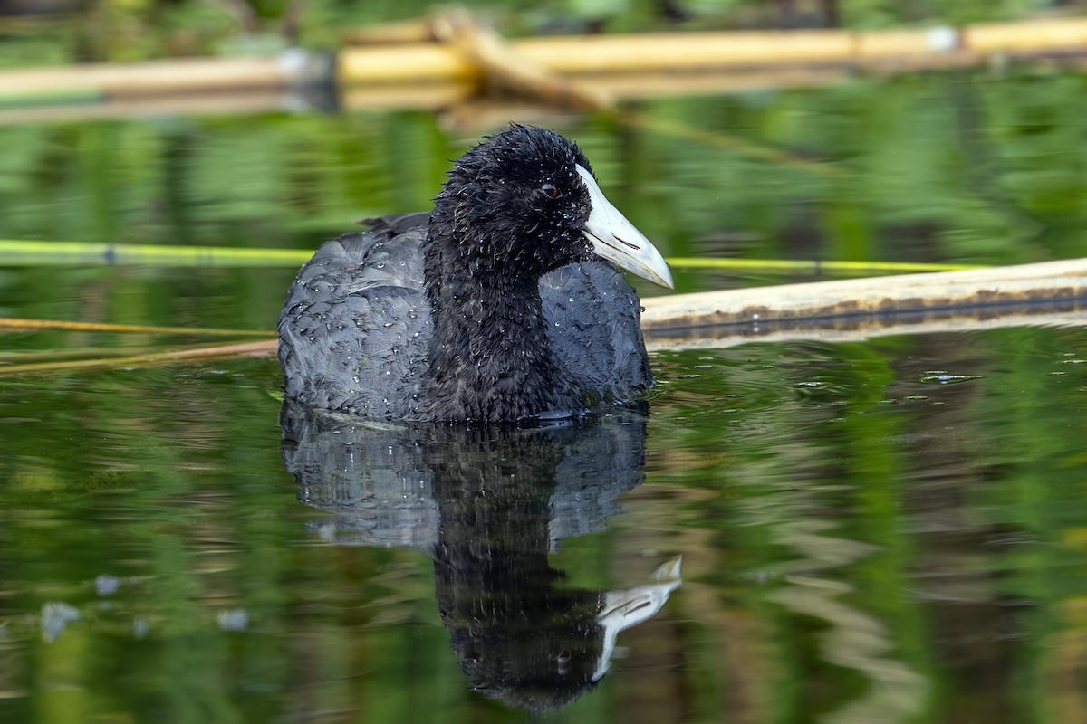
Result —
[{"label": "long yellow-tan stalk spanning the full background width above the coot", "polygon": [[[439,18],[441,16],[439,15]],[[484,35],[477,34],[477,39]],[[497,36],[495,36],[497,37]],[[337,59],[341,85],[476,82],[488,42],[458,47],[433,42],[349,47]],[[705,72],[750,67],[890,64],[942,67],[980,63],[992,53],[1037,55],[1087,51],[1087,18],[980,24],[955,29],[791,30],[779,33],[661,33],[514,40],[512,52],[528,67],[572,76]],[[502,67],[490,63],[491,71]],[[87,64],[0,73],[0,99],[28,103],[105,97],[224,92],[239,88],[283,88],[327,79],[321,56],[293,49],[272,58],[175,59],[133,64]],[[591,89],[587,89],[591,92]]]}]

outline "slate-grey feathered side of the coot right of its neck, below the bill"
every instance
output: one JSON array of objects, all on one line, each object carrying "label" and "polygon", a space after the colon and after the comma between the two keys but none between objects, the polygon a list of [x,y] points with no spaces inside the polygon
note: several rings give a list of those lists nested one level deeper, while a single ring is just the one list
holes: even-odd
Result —
[{"label": "slate-grey feathered side of the coot right of its neck, below the bill", "polygon": [[641,303],[608,262],[571,264],[540,278],[544,317],[559,364],[604,402],[653,384],[641,338]]}]

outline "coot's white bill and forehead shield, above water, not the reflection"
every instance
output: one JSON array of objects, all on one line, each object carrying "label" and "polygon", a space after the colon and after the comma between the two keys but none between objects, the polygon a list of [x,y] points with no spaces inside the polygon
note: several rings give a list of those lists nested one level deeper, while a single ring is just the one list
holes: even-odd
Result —
[{"label": "coot's white bill and forehead shield, above water, not the reflection", "polygon": [[585,182],[592,204],[584,229],[586,238],[592,243],[592,251],[642,279],[675,289],[672,271],[657,247],[604,198],[592,174],[579,164],[574,167]]}]

